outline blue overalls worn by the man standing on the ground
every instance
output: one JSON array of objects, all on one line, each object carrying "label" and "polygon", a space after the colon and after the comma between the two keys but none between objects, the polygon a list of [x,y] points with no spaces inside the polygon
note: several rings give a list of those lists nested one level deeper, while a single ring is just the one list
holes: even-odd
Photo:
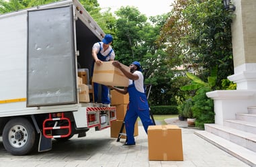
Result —
[{"label": "blue overalls worn by the man standing on the ground", "polygon": [[126,143],[135,144],[134,140],[134,124],[138,117],[142,121],[142,125],[146,133],[148,133],[148,126],[153,125],[153,121],[150,117],[148,100],[145,93],[137,91],[134,80],[132,85],[128,86],[129,104],[124,119],[126,127]]}]

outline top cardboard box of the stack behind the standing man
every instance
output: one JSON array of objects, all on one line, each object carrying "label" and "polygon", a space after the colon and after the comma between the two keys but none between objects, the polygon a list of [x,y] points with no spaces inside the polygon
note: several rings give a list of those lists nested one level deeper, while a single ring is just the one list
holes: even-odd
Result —
[{"label": "top cardboard box of the stack behind the standing man", "polygon": [[125,105],[129,103],[129,94],[123,95],[122,93],[118,93],[118,91],[111,90],[110,91],[111,105]]}]

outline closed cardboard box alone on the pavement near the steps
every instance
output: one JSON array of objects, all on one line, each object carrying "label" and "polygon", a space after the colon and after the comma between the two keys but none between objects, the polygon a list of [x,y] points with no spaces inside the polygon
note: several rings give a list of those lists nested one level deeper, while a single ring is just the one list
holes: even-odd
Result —
[{"label": "closed cardboard box alone on the pavement near the steps", "polygon": [[181,129],[177,125],[148,127],[149,160],[183,160]]}]

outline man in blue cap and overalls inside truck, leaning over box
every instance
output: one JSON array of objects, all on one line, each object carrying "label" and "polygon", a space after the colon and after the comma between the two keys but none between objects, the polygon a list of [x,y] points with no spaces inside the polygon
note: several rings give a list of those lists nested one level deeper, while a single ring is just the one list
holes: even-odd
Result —
[{"label": "man in blue cap and overalls inside truck, leaning over box", "polygon": [[[103,38],[102,42],[97,42],[93,45],[92,56],[93,56],[93,65],[91,74],[93,74],[94,63],[98,66],[102,64],[102,62],[113,61],[115,58],[115,52],[110,46],[113,42],[113,37],[110,34],[106,34]],[[93,83],[94,90],[94,101],[98,100],[98,86],[99,84]],[[110,97],[109,97],[109,89],[105,85],[101,85],[101,103],[103,106],[110,107]]]}]

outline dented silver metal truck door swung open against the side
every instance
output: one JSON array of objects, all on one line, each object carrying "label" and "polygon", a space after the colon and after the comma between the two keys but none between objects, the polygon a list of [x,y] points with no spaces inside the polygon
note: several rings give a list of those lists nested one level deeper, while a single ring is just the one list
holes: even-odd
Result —
[{"label": "dented silver metal truck door swung open against the side", "polygon": [[73,7],[28,11],[27,107],[77,103]]}]

